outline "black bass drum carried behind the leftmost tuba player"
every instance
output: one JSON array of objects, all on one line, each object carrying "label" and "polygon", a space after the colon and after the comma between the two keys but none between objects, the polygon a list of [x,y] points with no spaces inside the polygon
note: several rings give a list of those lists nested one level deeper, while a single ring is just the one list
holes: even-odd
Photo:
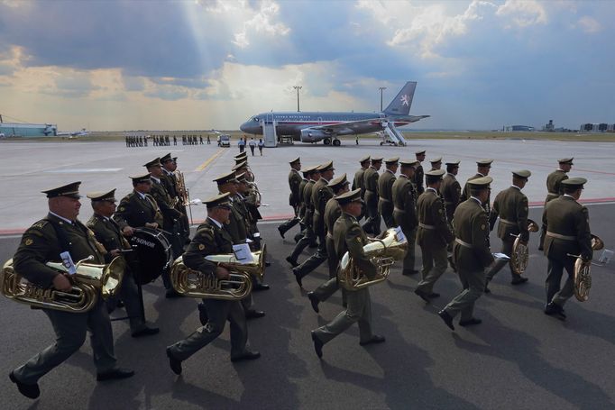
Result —
[{"label": "black bass drum carried behind the leftmost tuba player", "polygon": [[169,269],[173,258],[170,242],[164,233],[151,228],[138,228],[134,230],[130,243],[136,254],[130,264],[138,284],[153,282]]}]

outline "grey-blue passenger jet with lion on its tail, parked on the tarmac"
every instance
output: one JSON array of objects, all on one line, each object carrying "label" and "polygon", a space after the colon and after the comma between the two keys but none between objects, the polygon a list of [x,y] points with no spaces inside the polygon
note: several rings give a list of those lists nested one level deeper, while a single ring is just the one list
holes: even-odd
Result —
[{"label": "grey-blue passenger jet with lion on its tail, parked on the tarmac", "polygon": [[390,105],[381,113],[336,113],[336,112],[271,112],[253,115],[241,124],[245,133],[262,135],[263,126],[275,124],[276,134],[291,136],[295,141],[317,142],[339,146],[338,135],[387,132],[392,141],[406,145],[396,127],[416,123],[429,115],[409,115],[410,105],[417,87],[416,81],[408,81]]}]

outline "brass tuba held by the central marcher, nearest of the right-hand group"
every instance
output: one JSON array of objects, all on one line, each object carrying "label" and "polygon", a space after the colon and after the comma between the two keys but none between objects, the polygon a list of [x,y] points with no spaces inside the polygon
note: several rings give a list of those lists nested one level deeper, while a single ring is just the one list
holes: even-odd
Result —
[{"label": "brass tuba held by the central marcher, nearest of the right-hand group", "polygon": [[376,265],[376,276],[369,279],[354,266],[353,258],[344,253],[337,269],[337,280],[346,290],[359,290],[380,283],[389,278],[390,266],[395,260],[404,257],[408,241],[398,228],[390,228],[383,232],[381,238],[369,238],[370,243],[363,246],[363,252]]}]

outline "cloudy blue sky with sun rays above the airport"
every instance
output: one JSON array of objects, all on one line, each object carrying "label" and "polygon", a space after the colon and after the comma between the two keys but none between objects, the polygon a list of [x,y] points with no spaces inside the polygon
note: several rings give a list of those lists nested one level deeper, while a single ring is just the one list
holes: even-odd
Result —
[{"label": "cloudy blue sky with sun rays above the airport", "polygon": [[611,1],[0,0],[0,114],[62,131],[236,130],[380,110],[415,129],[615,123]]}]

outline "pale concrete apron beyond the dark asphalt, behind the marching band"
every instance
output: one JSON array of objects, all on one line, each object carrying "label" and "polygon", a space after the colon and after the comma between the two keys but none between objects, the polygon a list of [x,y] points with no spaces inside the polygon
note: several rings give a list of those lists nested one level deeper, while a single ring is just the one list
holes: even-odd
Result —
[{"label": "pale concrete apron beyond the dark asphalt, behind the marching band", "polygon": [[[290,159],[301,157],[304,167],[333,159],[335,174],[345,172],[352,180],[359,168],[357,161],[364,155],[414,159],[416,150],[427,150],[427,159],[423,162],[426,170],[430,169],[429,159],[460,159],[457,179],[462,185],[476,173],[476,159],[494,159],[490,174],[494,179],[494,193],[509,186],[511,170],[529,169],[532,177],[523,192],[535,205],[542,204],[545,199],[546,176],[556,169],[556,159],[574,157],[569,175],[589,180],[583,200],[615,200],[615,169],[612,168],[615,143],[606,142],[408,140],[407,147],[380,146],[377,140],[362,140],[360,145],[343,141],[341,147],[298,142],[265,149],[262,157],[256,150],[254,157],[249,154],[248,164],[262,192],[261,214],[268,219],[281,219],[289,217],[291,212],[288,205]],[[216,143],[126,148],[124,141],[0,141],[0,159],[4,164],[0,170],[0,192],[4,194],[0,205],[0,232],[22,232],[46,214],[47,204],[41,190],[75,180],[82,181],[82,193],[117,188],[115,195],[119,200],[132,190],[128,176],[145,172],[142,164],[167,152],[179,158],[179,169],[184,172],[191,199],[204,200],[217,193],[212,179],[231,170],[233,156],[239,149],[236,146],[218,148]],[[87,221],[90,215],[90,206],[84,201],[80,219]],[[192,216],[195,221],[202,220],[204,207],[193,206]]]}]

